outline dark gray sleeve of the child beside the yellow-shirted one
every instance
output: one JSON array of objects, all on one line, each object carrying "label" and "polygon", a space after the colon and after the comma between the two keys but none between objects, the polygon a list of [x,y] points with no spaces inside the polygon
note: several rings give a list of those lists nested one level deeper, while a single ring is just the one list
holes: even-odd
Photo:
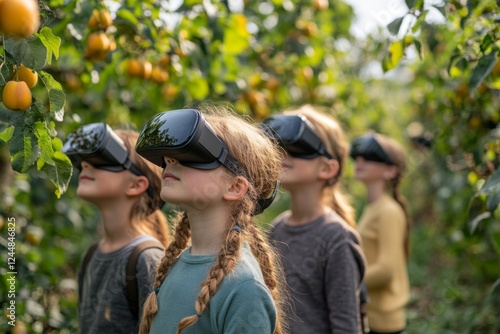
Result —
[{"label": "dark gray sleeve of the child beside the yellow-shirted one", "polygon": [[361,273],[354,254],[357,248],[352,247],[347,235],[335,239],[326,262],[324,281],[331,333],[360,333]]}]

